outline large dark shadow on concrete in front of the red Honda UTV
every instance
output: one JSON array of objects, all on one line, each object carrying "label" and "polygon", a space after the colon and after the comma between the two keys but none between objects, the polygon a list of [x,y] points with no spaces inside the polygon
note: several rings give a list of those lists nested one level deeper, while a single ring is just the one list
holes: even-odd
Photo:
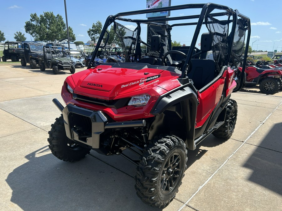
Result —
[{"label": "large dark shadow on concrete in front of the red Honda UTV", "polygon": [[23,210],[159,210],[144,204],[134,179],[117,169],[89,155],[69,163],[48,152],[46,146],[28,154],[6,179],[11,201]]}]

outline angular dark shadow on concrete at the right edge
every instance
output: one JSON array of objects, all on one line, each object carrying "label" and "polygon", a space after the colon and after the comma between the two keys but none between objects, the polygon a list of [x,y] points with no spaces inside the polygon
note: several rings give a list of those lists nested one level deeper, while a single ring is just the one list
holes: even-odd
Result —
[{"label": "angular dark shadow on concrete at the right edge", "polygon": [[[282,123],[275,124],[243,165],[252,169],[249,180],[282,195]],[[274,151],[275,150],[275,151]]]}]

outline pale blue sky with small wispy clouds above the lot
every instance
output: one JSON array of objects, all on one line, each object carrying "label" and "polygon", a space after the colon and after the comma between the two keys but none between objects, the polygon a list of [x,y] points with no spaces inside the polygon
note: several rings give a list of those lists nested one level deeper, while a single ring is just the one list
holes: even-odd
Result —
[{"label": "pale blue sky with small wispy clouds above the lot", "polygon": [[[267,5],[261,0],[211,0],[212,3],[226,5],[232,9],[238,9],[240,13],[251,19],[251,39],[254,50],[272,51],[282,50],[282,26],[280,13],[274,5]],[[171,5],[187,3],[206,3],[205,1],[171,0]],[[90,40],[87,30],[98,20],[104,24],[108,15],[119,12],[127,12],[146,8],[146,0],[107,0],[107,1],[75,1],[66,0],[68,24],[76,35],[76,41],[87,42]],[[43,12],[53,11],[55,15],[60,14],[65,20],[64,0],[10,0],[1,2],[0,30],[4,33],[6,40],[13,41],[14,33],[20,31],[25,34],[27,40],[30,35],[24,30],[26,21],[29,21],[31,13],[39,16]],[[182,15],[182,14],[179,14]],[[188,14],[185,14],[188,15]],[[5,18],[3,18],[5,17]],[[185,44],[188,38],[178,36],[177,42]]]}]

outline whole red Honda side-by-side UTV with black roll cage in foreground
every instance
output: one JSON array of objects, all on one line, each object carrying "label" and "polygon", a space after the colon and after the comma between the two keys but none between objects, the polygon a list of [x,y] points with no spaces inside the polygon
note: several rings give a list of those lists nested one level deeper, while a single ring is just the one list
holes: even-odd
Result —
[{"label": "whole red Honda side-by-side UTV with black roll cage in foreground", "polygon": [[[145,18],[146,13],[165,11],[171,17]],[[200,14],[178,15],[195,12]],[[125,62],[95,66],[111,26]],[[189,46],[171,46],[174,36],[190,32],[194,33]],[[91,149],[123,156],[137,166],[138,197],[151,206],[165,207],[182,183],[187,149],[196,149],[210,134],[227,140],[233,133],[237,103],[230,96],[249,37],[248,17],[212,3],[109,16],[88,69],[65,79],[61,96],[66,106],[53,99],[62,115],[52,124],[49,148],[70,162],[84,158]],[[147,47],[144,57],[141,44]],[[243,74],[247,50],[244,56]],[[242,86],[241,80],[238,89]],[[140,160],[124,151],[136,153]]]}]

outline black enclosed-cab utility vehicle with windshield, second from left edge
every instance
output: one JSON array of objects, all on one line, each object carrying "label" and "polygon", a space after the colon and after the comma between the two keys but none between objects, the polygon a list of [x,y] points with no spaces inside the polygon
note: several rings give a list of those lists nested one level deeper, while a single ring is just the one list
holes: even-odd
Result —
[{"label": "black enclosed-cab utility vehicle with windshield, second from left edge", "polygon": [[19,57],[23,67],[29,63],[31,69],[35,69],[39,65],[38,55],[43,54],[43,43],[23,42],[23,49],[20,50]]}]

